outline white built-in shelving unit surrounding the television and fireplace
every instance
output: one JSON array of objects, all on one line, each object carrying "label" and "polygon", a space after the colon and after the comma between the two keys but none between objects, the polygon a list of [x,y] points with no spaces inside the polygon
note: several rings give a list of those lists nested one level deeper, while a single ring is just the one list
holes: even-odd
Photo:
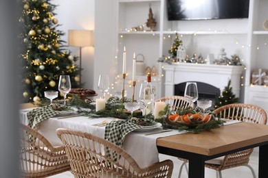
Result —
[{"label": "white built-in shelving unit surrounding the television and fireplace", "polygon": [[[241,57],[247,68],[243,76],[245,81],[241,87],[242,100],[245,99],[245,103],[257,104],[258,99],[254,96],[262,96],[267,103],[262,103],[260,106],[266,104],[266,108],[263,107],[268,112],[268,87],[251,87],[252,69],[268,68],[268,31],[263,29],[263,21],[268,18],[267,0],[250,0],[249,18],[208,21],[168,21],[166,0],[118,0],[117,3],[118,73],[122,70],[121,54],[124,47],[126,47],[128,60],[132,59],[134,52],[142,53],[146,66],[158,66],[159,76],[155,86],[159,88],[157,97],[162,97],[164,77],[162,77],[161,64],[157,64],[157,60],[168,55],[177,33],[188,55],[196,53],[206,58],[208,53],[213,53],[217,58],[219,50],[225,48],[227,57],[234,54]],[[153,18],[157,21],[155,31],[131,31],[132,27],[146,24],[149,3],[153,10]],[[144,29],[147,29],[146,25]],[[128,62],[129,74],[132,73],[131,65],[132,62]]]}]

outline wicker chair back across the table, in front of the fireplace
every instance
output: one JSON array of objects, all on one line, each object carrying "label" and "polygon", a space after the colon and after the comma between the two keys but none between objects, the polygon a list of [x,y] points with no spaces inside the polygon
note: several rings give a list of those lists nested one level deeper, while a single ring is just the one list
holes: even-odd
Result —
[{"label": "wicker chair back across the table, in front of the fireplace", "polygon": [[[169,105],[170,110],[177,111],[179,107],[186,108],[190,103],[184,99],[182,96],[170,96],[170,97],[162,97],[157,99],[156,101],[163,101]],[[194,104],[191,105],[194,107]]]}]

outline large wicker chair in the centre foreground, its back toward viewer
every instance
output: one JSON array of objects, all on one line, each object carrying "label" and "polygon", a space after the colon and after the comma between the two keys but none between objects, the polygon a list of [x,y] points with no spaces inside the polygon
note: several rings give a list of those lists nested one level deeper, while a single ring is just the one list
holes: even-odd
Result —
[{"label": "large wicker chair in the centre foreground, its back toward viewer", "polygon": [[[173,162],[165,160],[139,168],[117,145],[90,133],[57,129],[74,177],[171,177]],[[111,154],[110,154],[111,153]]]}]

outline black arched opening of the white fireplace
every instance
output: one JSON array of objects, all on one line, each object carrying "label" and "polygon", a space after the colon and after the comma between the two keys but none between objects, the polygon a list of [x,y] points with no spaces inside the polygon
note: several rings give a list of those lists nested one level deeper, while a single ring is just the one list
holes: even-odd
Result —
[{"label": "black arched opening of the white fireplace", "polygon": [[[203,82],[199,81],[191,81],[191,82],[197,83],[199,99],[210,99],[212,101],[212,107],[210,109],[214,110],[214,104],[216,102],[216,99],[219,98],[219,96],[221,95],[221,90],[219,88],[216,88],[215,86]],[[178,96],[184,95],[186,83],[187,82],[183,82],[181,84],[175,84],[175,95]]]}]

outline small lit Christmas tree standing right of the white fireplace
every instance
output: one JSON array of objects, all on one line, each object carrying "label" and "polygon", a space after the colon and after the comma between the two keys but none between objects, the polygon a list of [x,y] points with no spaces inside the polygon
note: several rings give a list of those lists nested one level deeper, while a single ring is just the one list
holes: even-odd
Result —
[{"label": "small lit Christmas tree standing right of the white fireplace", "polygon": [[238,98],[232,92],[231,80],[228,81],[228,85],[223,90],[221,96],[216,100],[214,108],[217,109],[223,105],[232,103],[238,103]]}]

